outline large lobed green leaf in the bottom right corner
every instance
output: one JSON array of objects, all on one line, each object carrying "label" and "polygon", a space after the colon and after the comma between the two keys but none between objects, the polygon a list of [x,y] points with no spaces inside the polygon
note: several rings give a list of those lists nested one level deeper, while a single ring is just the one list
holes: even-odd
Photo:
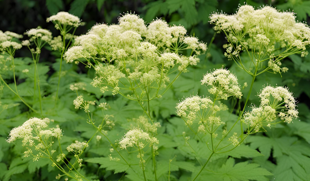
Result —
[{"label": "large lobed green leaf in the bottom right corner", "polygon": [[[308,180],[310,178],[310,147],[306,142],[297,141],[296,137],[268,138],[253,136],[249,138],[250,146],[265,153],[267,160],[271,155],[276,158],[277,167],[273,171],[275,179]],[[287,173],[286,173],[287,172]],[[283,177],[283,173],[291,173],[290,177]],[[294,179],[290,179],[294,178]]]}]

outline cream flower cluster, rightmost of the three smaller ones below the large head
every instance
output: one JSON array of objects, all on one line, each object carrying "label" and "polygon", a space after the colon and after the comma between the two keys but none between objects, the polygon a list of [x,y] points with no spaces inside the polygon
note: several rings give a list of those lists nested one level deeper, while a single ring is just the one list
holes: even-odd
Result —
[{"label": "cream flower cluster, rightmost of the three smaller ones below the large head", "polygon": [[244,114],[244,123],[249,132],[258,132],[263,126],[270,127],[277,118],[286,123],[298,117],[296,100],[285,87],[267,86],[258,94],[261,99],[259,107],[252,106],[252,111]]}]

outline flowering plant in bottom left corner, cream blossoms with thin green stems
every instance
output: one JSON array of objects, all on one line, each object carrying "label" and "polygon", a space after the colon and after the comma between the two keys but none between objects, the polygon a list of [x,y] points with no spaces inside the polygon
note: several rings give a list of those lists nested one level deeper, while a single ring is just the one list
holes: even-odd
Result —
[{"label": "flowering plant in bottom left corner, cream blossoms with thin green stems", "polygon": [[[24,157],[32,156],[33,161],[38,161],[40,158],[51,160],[52,166],[57,167],[63,173],[62,175],[58,174],[56,179],[66,176],[75,180],[82,180],[81,178],[84,178],[84,176],[76,170],[75,165],[78,163],[79,167],[82,166],[82,159],[79,157],[83,153],[83,150],[88,147],[88,142],[75,141],[75,143],[67,147],[67,151],[73,152],[74,157],[76,157],[75,162],[71,164],[61,149],[62,130],[58,125],[56,128],[48,128],[48,124],[51,121],[54,122],[54,120],[48,118],[30,118],[21,126],[11,130],[7,142],[13,143],[16,139],[22,138],[22,145],[27,149],[24,152]],[[59,143],[61,152],[58,155],[56,151],[58,148],[54,145],[55,141]],[[74,176],[71,173],[72,171],[74,172]]]}]

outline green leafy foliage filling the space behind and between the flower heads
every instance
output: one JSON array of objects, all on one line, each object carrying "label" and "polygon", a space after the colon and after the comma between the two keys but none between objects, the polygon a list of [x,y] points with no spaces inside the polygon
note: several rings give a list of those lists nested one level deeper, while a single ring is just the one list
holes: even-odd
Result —
[{"label": "green leafy foliage filling the space behind and between the flower heads", "polygon": [[[263,5],[266,1],[247,1],[251,5]],[[2,1],[1,3],[4,3]],[[20,5],[28,9],[38,7],[35,1],[20,1]],[[42,3],[42,2],[41,2]],[[201,166],[207,161],[211,154],[206,144],[199,142],[199,138],[191,132],[184,124],[184,121],[176,117],[175,104],[184,96],[208,95],[208,91],[200,84],[203,75],[214,68],[222,66],[227,67],[235,73],[241,84],[243,95],[247,95],[249,87],[242,88],[243,83],[250,84],[251,76],[240,70],[232,61],[227,61],[223,56],[223,44],[227,40],[222,35],[214,34],[214,30],[209,25],[209,14],[213,11],[222,10],[226,13],[236,11],[238,1],[215,1],[215,0],[145,0],[141,2],[132,1],[137,7],[127,8],[125,2],[114,2],[108,0],[46,0],[46,8],[50,15],[59,11],[69,11],[76,16],[84,19],[92,19],[102,22],[98,13],[102,13],[105,23],[116,23],[116,17],[123,11],[136,11],[144,20],[149,22],[156,17],[162,17],[170,25],[184,25],[190,35],[195,34],[200,39],[208,43],[207,55],[201,55],[201,62],[197,66],[189,67],[188,72],[181,74],[166,92],[165,96],[155,99],[151,102],[153,107],[152,115],[156,122],[160,122],[162,127],[157,129],[156,138],[159,141],[158,152],[156,156],[157,180],[192,180],[201,169]],[[240,1],[241,4],[243,2]],[[297,13],[297,19],[300,21],[308,20],[310,14],[310,1],[268,1],[268,4],[283,10],[293,10]],[[103,14],[105,13],[105,14]],[[40,15],[45,17],[45,15]],[[10,20],[10,17],[4,19]],[[43,20],[45,22],[45,20]],[[95,21],[88,22],[95,24]],[[88,24],[86,24],[88,27]],[[1,27],[2,28],[2,27]],[[35,28],[35,27],[33,27]],[[86,29],[82,33],[86,33]],[[6,30],[6,29],[2,29]],[[23,29],[25,31],[26,29]],[[54,34],[54,33],[53,33]],[[212,37],[215,37],[210,43]],[[128,131],[132,124],[132,119],[143,115],[138,102],[130,101],[122,96],[113,96],[111,93],[101,93],[97,88],[90,85],[95,73],[86,69],[84,66],[75,64],[66,64],[62,62],[62,77],[60,81],[59,100],[55,106],[55,92],[57,90],[58,75],[60,67],[60,53],[54,51],[47,54],[45,51],[50,47],[42,48],[42,58],[40,58],[38,75],[40,77],[40,88],[42,95],[42,112],[44,117],[54,119],[52,127],[59,125],[63,130],[61,139],[62,150],[68,156],[68,160],[74,162],[75,157],[72,153],[66,151],[66,147],[75,140],[89,140],[96,132],[91,124],[87,124],[88,116],[84,110],[76,110],[72,104],[76,98],[76,93],[72,92],[70,84],[83,82],[87,86],[81,93],[85,100],[96,100],[97,105],[107,102],[110,109],[104,114],[113,115],[115,127],[108,130],[108,138],[112,143],[117,143],[124,133]],[[21,49],[21,52],[29,51],[27,48]],[[17,89],[19,95],[25,102],[31,103],[35,110],[40,109],[38,97],[33,100],[33,95],[38,94],[33,90],[34,86],[34,64],[31,58],[24,57],[26,53],[17,54],[19,57],[14,59],[15,74],[17,77]],[[22,57],[21,57],[22,56]],[[30,54],[31,56],[31,54]],[[246,59],[246,55],[242,55]],[[250,60],[246,63],[250,63]],[[7,64],[12,67],[11,64]],[[285,74],[276,75],[266,73],[255,80],[255,86],[250,96],[250,102],[258,103],[258,97],[255,96],[266,84],[277,84],[279,86],[288,86],[290,91],[297,97],[300,118],[294,120],[291,124],[277,124],[275,128],[268,129],[266,133],[257,133],[250,135],[245,143],[242,143],[236,149],[224,154],[215,154],[206,168],[202,171],[197,180],[223,180],[223,181],[309,181],[310,179],[310,56],[300,57],[299,55],[290,55],[283,61],[283,65],[289,68]],[[22,70],[29,69],[28,73]],[[9,83],[10,88],[15,90],[12,71],[0,73],[4,80]],[[3,85],[1,82],[0,86]],[[0,180],[47,180],[54,181],[60,171],[52,167],[49,159],[40,158],[33,161],[31,158],[24,158],[25,147],[21,146],[21,140],[8,144],[6,142],[8,133],[13,127],[23,124],[30,117],[42,117],[40,112],[29,111],[29,108],[12,93],[8,87],[4,86],[0,90]],[[228,111],[223,111],[220,116],[227,120],[226,125],[231,126],[238,118],[239,105],[245,103],[245,98],[237,102],[230,98],[224,101],[228,106]],[[146,101],[143,102],[147,104]],[[98,106],[90,106],[92,119],[99,123],[102,120],[102,111]],[[246,110],[248,108],[246,107]],[[240,131],[239,126],[236,126]],[[197,130],[197,127],[194,128]],[[183,132],[190,139],[184,140]],[[96,136],[102,138],[96,140]],[[198,136],[202,136],[201,133]],[[131,165],[127,165],[116,153],[111,152],[111,144],[100,133],[89,143],[82,155],[82,167],[78,171],[85,175],[88,180],[143,180],[143,174],[136,154],[124,153]],[[206,142],[210,142],[208,136]],[[116,144],[115,144],[116,145]],[[58,142],[55,143],[55,149],[59,152]],[[120,161],[110,160],[119,158]],[[56,158],[56,157],[55,157]],[[144,155],[147,168],[146,177],[148,180],[154,180],[154,170],[152,163],[152,154],[147,152]],[[169,171],[170,170],[170,174]],[[74,175],[73,175],[74,176]],[[63,180],[65,177],[62,177]],[[70,179],[69,179],[70,180]],[[86,180],[86,179],[83,179]]]}]

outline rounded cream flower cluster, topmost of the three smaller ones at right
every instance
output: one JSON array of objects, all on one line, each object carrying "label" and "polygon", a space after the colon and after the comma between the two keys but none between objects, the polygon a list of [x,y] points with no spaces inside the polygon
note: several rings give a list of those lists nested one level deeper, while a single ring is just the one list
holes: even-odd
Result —
[{"label": "rounded cream flower cluster, topmost of the three smaller ones at right", "polygon": [[241,98],[242,93],[236,75],[226,69],[216,69],[203,76],[201,84],[211,86],[208,91],[214,94],[216,99],[227,100],[230,96]]}]

